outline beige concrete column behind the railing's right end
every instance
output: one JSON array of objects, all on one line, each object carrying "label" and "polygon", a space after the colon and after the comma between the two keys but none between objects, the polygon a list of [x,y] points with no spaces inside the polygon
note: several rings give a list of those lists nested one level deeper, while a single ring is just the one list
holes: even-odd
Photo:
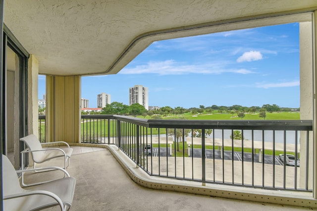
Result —
[{"label": "beige concrete column behind the railing's right end", "polygon": [[[300,23],[300,108],[301,119],[313,119],[313,56],[312,22]],[[313,128],[314,130],[314,128]],[[308,187],[312,188],[313,134],[309,140],[309,163],[306,166],[306,132],[300,138],[300,188],[305,188],[306,171],[309,171]]]}]

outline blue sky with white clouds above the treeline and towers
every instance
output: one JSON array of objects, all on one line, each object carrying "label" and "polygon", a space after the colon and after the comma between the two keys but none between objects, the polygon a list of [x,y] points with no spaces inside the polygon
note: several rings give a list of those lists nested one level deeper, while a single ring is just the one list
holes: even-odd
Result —
[{"label": "blue sky with white clouds above the treeline and towers", "polygon": [[129,87],[143,85],[149,106],[295,108],[299,81],[299,24],[290,23],[155,42],[116,75],[82,77],[82,98],[97,107],[105,92],[129,105]]}]

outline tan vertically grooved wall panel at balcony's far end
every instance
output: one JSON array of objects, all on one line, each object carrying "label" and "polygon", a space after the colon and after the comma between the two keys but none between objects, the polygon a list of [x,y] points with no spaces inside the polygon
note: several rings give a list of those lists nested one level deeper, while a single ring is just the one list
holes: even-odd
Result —
[{"label": "tan vertically grooved wall panel at balcony's far end", "polygon": [[80,80],[81,76],[47,76],[48,142],[80,142]]}]

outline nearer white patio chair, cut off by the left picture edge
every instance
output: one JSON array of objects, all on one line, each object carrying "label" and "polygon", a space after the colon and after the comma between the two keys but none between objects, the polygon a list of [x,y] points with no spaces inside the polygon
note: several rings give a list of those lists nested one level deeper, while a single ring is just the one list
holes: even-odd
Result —
[{"label": "nearer white patio chair, cut off by the left picture edge", "polygon": [[[43,168],[41,168],[43,169]],[[63,168],[67,176],[69,174]],[[34,169],[27,169],[34,170]],[[2,155],[2,185],[4,211],[33,211],[59,206],[61,211],[67,211],[72,205],[76,179],[65,177],[44,184],[23,189],[17,172],[10,160]]]}]

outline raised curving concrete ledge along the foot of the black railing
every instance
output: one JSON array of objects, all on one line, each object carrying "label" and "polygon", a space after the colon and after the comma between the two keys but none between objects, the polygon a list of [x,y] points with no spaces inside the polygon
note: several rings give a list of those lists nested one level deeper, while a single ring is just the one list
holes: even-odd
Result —
[{"label": "raised curving concrete ledge along the foot of the black railing", "polygon": [[120,163],[126,173],[137,184],[156,190],[176,191],[183,193],[199,194],[212,197],[230,198],[245,201],[262,203],[272,203],[278,205],[298,206],[307,208],[317,208],[317,200],[312,197],[312,193],[265,190],[248,187],[238,187],[221,184],[202,184],[195,181],[183,181],[171,178],[150,176],[136,163],[128,158],[115,145],[107,144],[78,144],[69,143],[73,146],[101,147],[110,151],[114,158]]}]

